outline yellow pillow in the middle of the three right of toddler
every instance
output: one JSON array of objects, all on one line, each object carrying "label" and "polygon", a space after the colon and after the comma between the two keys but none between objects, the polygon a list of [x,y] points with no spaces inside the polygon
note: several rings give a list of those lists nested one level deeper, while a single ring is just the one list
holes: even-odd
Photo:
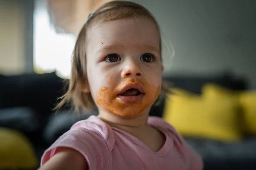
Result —
[{"label": "yellow pillow in the middle of the three right of toddler", "polygon": [[207,113],[212,116],[212,128],[216,128],[227,140],[241,139],[241,112],[239,110],[239,93],[214,84],[203,88],[207,101]]}]

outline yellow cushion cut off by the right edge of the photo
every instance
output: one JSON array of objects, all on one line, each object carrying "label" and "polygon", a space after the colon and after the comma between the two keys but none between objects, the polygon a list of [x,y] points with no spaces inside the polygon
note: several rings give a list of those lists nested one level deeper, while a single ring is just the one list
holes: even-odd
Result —
[{"label": "yellow cushion cut off by the right edge of the photo", "polygon": [[256,135],[256,91],[241,92],[239,103],[243,111],[245,132]]}]

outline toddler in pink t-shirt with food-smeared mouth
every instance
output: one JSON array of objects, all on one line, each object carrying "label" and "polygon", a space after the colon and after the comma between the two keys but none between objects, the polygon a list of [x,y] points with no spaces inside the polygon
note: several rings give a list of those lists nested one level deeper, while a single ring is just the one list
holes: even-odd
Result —
[{"label": "toddler in pink t-shirt with food-smeared mouth", "polygon": [[90,14],[73,52],[70,87],[57,106],[97,107],[42,156],[40,170],[202,170],[161,118],[148,116],[162,85],[161,37],[151,13],[111,1]]}]

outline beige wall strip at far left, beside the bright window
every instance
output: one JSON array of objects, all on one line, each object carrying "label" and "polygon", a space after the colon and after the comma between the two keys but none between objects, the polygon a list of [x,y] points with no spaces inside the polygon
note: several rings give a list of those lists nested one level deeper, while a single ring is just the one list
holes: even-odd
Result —
[{"label": "beige wall strip at far left, beside the bright window", "polygon": [[24,9],[20,0],[0,0],[0,74],[26,70]]}]

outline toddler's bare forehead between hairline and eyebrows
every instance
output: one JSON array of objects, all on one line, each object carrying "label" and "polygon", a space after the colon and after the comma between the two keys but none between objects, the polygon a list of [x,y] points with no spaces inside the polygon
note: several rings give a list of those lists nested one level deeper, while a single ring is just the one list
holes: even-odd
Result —
[{"label": "toddler's bare forehead between hairline and eyebrows", "polygon": [[87,31],[87,50],[109,45],[160,48],[157,25],[146,17],[128,17],[97,23]]}]

